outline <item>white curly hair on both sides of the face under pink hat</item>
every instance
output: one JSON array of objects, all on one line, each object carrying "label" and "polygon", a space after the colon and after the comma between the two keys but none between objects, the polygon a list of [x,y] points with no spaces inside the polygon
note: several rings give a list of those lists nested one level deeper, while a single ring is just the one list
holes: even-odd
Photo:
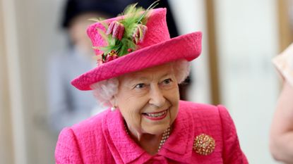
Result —
[{"label": "white curly hair on both sides of the face under pink hat", "polygon": [[[190,72],[190,63],[184,59],[172,62],[174,74],[178,84],[184,82]],[[97,101],[106,107],[111,107],[110,100],[118,92],[119,81],[117,77],[103,80],[90,85],[93,95]]]}]

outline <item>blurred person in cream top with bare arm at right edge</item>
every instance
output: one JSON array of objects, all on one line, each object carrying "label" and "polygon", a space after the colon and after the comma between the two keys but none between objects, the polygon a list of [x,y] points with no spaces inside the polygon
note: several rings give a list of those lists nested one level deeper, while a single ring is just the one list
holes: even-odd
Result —
[{"label": "blurred person in cream top with bare arm at right edge", "polygon": [[273,59],[284,80],[270,130],[270,152],[276,160],[293,163],[293,44]]}]

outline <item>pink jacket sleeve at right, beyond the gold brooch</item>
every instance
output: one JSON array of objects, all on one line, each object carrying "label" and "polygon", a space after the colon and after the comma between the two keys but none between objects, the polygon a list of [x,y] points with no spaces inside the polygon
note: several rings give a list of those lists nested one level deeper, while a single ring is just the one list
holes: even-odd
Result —
[{"label": "pink jacket sleeve at right, beyond the gold brooch", "polygon": [[224,106],[218,106],[222,121],[223,160],[225,164],[249,163],[240,149],[234,122]]}]

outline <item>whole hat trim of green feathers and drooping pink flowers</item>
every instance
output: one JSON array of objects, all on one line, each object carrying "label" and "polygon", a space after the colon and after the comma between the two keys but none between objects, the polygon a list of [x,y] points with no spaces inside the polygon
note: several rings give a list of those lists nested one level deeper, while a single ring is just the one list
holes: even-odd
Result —
[{"label": "whole hat trim of green feathers and drooping pink flowers", "polygon": [[114,20],[111,23],[104,22],[100,19],[91,19],[100,22],[106,29],[97,31],[101,34],[107,46],[94,46],[103,53],[102,63],[107,63],[116,58],[124,56],[132,51],[136,51],[138,44],[143,42],[145,33],[148,31],[146,23],[150,15],[150,11],[157,6],[155,1],[146,10],[142,7],[136,7],[137,4],[131,4],[119,14],[120,20]]}]

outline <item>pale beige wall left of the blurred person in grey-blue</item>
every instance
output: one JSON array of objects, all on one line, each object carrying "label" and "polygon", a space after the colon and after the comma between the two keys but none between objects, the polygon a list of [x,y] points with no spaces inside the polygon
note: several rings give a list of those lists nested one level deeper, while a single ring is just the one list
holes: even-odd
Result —
[{"label": "pale beige wall left of the blurred person in grey-blue", "polygon": [[56,137],[49,132],[45,119],[44,83],[50,51],[64,46],[64,37],[57,28],[63,1],[0,2],[4,43],[0,59],[5,62],[1,68],[6,67],[0,78],[8,83],[5,90],[0,90],[0,106],[4,107],[0,113],[5,118],[0,121],[0,156],[9,153],[0,163],[54,163]]}]

